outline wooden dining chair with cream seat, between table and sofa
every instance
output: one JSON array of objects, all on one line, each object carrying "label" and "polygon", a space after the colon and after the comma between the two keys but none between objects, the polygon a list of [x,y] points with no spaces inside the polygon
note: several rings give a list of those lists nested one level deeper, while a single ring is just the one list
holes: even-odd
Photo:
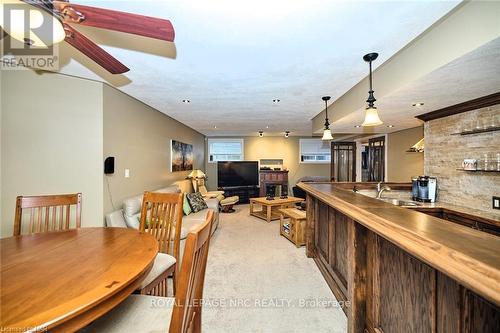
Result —
[{"label": "wooden dining chair with cream seat, between table and sofa", "polygon": [[160,253],[138,288],[140,294],[168,296],[168,278],[172,276],[175,295],[182,230],[182,199],[181,193],[144,192],[139,230],[154,236]]}]

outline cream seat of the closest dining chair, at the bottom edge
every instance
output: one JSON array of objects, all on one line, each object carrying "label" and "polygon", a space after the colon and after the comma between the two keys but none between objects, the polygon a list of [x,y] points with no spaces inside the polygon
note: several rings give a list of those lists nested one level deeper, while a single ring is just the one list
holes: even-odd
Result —
[{"label": "cream seat of the closest dining chair, at the bottom edge", "polygon": [[168,332],[175,298],[131,295],[79,332]]}]

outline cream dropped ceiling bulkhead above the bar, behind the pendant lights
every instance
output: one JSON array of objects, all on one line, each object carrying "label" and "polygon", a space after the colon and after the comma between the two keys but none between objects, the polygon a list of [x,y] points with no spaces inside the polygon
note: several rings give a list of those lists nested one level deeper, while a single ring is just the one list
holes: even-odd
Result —
[{"label": "cream dropped ceiling bulkhead above the bar, behind the pendant lights", "polygon": [[[376,87],[375,87],[376,90]],[[334,133],[390,133],[421,125],[416,115],[500,91],[500,38],[442,66],[377,101],[384,125],[354,128],[363,122],[359,109],[335,121]],[[376,92],[375,92],[376,95]],[[414,107],[412,103],[422,102]],[[388,128],[387,125],[394,125]]]}]

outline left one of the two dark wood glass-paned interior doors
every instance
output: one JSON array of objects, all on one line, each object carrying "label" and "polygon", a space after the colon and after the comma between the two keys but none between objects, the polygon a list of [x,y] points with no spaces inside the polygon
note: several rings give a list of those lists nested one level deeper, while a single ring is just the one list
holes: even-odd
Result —
[{"label": "left one of the two dark wood glass-paned interior doors", "polygon": [[330,178],[334,182],[356,181],[356,142],[332,142]]}]

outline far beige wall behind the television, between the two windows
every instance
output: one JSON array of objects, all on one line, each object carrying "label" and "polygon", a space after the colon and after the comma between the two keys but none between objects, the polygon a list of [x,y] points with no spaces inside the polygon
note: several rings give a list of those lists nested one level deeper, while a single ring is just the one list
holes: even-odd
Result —
[{"label": "far beige wall behind the television, between the two windows", "polygon": [[[297,180],[304,176],[330,177],[329,163],[299,163],[299,137],[243,137],[243,139],[245,160],[283,159],[284,167],[289,170],[290,186],[294,186]],[[208,163],[207,158],[206,171],[207,186],[210,190],[214,190],[217,187],[217,163]]]}]

